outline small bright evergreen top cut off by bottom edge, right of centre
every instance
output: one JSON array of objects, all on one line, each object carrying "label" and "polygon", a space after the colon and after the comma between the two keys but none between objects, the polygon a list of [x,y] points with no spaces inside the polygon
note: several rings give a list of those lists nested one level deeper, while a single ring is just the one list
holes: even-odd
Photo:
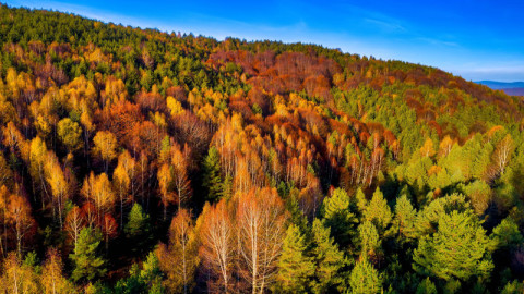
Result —
[{"label": "small bright evergreen top cut off by bottom edge, right of centre", "polygon": [[349,286],[355,294],[374,294],[380,293],[382,281],[373,266],[362,258],[349,275]]}]

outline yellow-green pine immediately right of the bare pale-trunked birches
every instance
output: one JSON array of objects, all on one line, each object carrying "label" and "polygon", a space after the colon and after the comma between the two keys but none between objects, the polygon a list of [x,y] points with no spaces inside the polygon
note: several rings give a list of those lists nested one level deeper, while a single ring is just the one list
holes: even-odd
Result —
[{"label": "yellow-green pine immediately right of the bare pale-trunked birches", "polygon": [[306,254],[306,238],[297,225],[287,229],[278,259],[277,290],[282,293],[303,293],[314,273],[314,265]]}]

